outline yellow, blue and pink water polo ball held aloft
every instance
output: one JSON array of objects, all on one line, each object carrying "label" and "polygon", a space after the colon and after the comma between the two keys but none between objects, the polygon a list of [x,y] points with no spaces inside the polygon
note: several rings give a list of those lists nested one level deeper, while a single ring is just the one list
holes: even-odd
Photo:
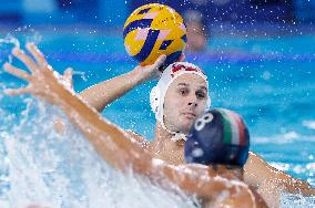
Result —
[{"label": "yellow, blue and pink water polo ball held aloft", "polygon": [[153,64],[165,54],[166,66],[180,58],[187,42],[183,18],[160,3],[135,9],[124,23],[123,39],[128,54],[140,65]]}]

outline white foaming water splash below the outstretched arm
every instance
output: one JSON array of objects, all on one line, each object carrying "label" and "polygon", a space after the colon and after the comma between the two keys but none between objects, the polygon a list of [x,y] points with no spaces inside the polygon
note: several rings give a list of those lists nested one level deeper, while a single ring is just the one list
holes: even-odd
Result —
[{"label": "white foaming water splash below the outstretched arm", "polygon": [[[65,119],[57,107],[22,97],[21,116],[2,129],[7,187],[1,207],[195,207],[192,197],[151,185],[132,171],[112,169]],[[53,131],[53,121],[65,121],[65,133]],[[9,127],[10,126],[10,127]],[[109,144],[110,145],[110,144]],[[1,185],[1,183],[0,183]],[[1,187],[2,188],[2,187]]]}]

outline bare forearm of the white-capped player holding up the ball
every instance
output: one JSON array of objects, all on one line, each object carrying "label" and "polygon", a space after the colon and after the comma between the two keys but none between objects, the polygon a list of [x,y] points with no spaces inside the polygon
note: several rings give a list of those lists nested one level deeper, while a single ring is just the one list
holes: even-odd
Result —
[{"label": "bare forearm of the white-capped player holding up the ball", "polygon": [[98,112],[143,82],[140,73],[129,73],[95,84],[80,93],[80,96]]}]

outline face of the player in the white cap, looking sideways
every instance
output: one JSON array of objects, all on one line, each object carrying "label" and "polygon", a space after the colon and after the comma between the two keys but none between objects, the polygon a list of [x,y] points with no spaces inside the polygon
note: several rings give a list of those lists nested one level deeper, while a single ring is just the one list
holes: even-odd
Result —
[{"label": "face of the player in the white cap, looking sideways", "polygon": [[204,111],[207,84],[196,74],[176,77],[166,91],[164,124],[167,129],[187,134],[196,117]]}]

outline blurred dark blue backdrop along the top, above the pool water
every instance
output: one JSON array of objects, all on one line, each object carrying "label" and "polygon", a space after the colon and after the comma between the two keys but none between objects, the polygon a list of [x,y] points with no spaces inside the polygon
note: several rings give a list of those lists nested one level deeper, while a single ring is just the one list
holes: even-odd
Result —
[{"label": "blurred dark blue backdrop along the top, above the pool water", "polygon": [[0,22],[16,24],[93,23],[121,27],[135,8],[158,2],[184,14],[197,10],[206,23],[309,22],[314,0],[0,0]]}]

